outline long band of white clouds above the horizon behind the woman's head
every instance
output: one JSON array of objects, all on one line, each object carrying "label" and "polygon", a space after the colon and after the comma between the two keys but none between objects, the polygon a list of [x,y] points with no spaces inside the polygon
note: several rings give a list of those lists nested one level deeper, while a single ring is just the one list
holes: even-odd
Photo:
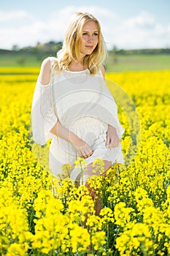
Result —
[{"label": "long band of white clouds above the horizon behind the woman's head", "polygon": [[[69,19],[74,12],[93,13],[101,23],[108,48],[164,48],[170,47],[170,24],[163,26],[149,12],[139,12],[134,17],[122,18],[107,8],[96,6],[66,7],[50,13],[42,19],[31,17],[24,11],[1,12],[0,48],[12,48],[12,45],[24,47],[36,45],[36,42],[62,40]],[[10,26],[5,26],[5,19]],[[15,26],[15,20],[20,20]],[[27,19],[27,23],[23,21]]]}]

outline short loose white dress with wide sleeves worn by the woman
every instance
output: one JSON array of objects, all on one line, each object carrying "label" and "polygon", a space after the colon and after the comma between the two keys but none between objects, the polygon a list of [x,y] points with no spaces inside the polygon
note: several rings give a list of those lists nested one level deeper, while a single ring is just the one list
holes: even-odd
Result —
[{"label": "short loose white dress with wide sleeves worn by the woman", "polygon": [[[123,163],[121,145],[106,147],[107,127],[117,129],[119,138],[123,135],[117,116],[117,105],[104,82],[101,72],[89,75],[89,70],[79,72],[63,71],[58,75],[53,71],[55,58],[50,57],[50,82],[44,86],[39,78],[36,82],[31,109],[33,139],[39,145],[50,144],[49,165],[54,176],[62,174],[61,167],[71,164],[80,157],[71,143],[53,135],[50,129],[57,121],[85,140],[93,149],[91,157],[85,159],[87,165],[97,158]],[[77,178],[73,170],[71,178]]]}]

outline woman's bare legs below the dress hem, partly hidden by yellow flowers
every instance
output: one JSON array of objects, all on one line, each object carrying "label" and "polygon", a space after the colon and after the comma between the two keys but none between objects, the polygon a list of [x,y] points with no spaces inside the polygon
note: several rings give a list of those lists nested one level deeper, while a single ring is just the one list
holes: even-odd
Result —
[{"label": "woman's bare legs below the dress hem, partly hidden by yellow flowers", "polygon": [[[84,173],[84,177],[88,178],[88,176],[93,176],[93,167],[92,167],[92,163],[90,165],[87,166],[87,169],[85,170]],[[101,173],[102,176],[106,177],[107,176],[107,170],[109,170],[109,167],[112,166],[112,162],[111,161],[107,161],[104,160],[104,173]],[[88,181],[85,181],[84,179],[84,183],[85,186],[88,188],[89,194],[91,195],[91,197],[93,198],[93,200],[95,200],[95,211],[96,211],[96,215],[99,216],[100,215],[100,211],[101,211],[101,200],[100,200],[100,193],[98,192],[97,198],[96,197],[96,193],[93,190],[93,188],[90,187],[90,185],[88,184]]]}]

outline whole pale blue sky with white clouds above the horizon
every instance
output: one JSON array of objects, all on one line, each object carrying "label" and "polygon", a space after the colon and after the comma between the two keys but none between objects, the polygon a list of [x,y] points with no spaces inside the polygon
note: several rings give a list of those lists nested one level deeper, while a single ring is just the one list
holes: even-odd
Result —
[{"label": "whole pale blue sky with white clouds above the horizon", "polygon": [[107,48],[170,48],[169,0],[2,1],[0,48],[63,40],[74,12],[98,18]]}]

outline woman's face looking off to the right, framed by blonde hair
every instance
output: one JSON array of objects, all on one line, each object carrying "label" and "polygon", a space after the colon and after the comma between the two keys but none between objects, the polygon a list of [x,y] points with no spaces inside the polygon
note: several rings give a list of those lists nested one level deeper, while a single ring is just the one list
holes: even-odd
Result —
[{"label": "woman's face looking off to the right, framed by blonde hair", "polygon": [[80,53],[83,56],[90,55],[98,44],[98,26],[94,21],[88,21],[82,27],[80,39]]}]

